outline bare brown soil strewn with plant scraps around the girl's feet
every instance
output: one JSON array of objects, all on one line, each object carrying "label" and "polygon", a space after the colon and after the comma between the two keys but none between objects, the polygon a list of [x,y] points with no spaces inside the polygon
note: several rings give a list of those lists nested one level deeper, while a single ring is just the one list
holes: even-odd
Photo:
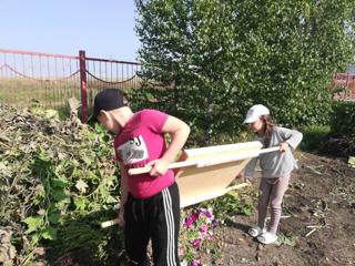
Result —
[{"label": "bare brown soil strewn with plant scraps around the girl's feet", "polygon": [[[297,153],[280,224],[280,242],[262,245],[247,235],[253,215],[220,227],[222,254],[211,265],[355,265],[355,168],[344,158]],[[257,183],[243,192],[256,206]]]}]

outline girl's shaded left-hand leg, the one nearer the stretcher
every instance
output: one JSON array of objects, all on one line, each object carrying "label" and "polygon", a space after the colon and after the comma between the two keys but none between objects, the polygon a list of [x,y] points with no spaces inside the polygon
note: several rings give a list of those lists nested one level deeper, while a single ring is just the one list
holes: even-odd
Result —
[{"label": "girl's shaded left-hand leg, the one nearer the stretcher", "polygon": [[258,204],[257,204],[257,226],[265,227],[265,219],[268,206],[270,194],[272,185],[267,182],[268,178],[262,177],[258,186]]}]

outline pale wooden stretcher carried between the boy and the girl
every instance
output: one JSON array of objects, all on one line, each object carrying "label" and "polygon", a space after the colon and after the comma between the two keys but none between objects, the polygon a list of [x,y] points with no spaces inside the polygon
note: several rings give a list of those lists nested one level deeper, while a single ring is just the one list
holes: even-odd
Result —
[{"label": "pale wooden stretcher carried between the boy and the girl", "polygon": [[[248,161],[262,153],[280,150],[278,146],[261,150],[262,146],[261,142],[255,141],[184,150],[179,161],[169,166],[175,172],[180,206],[183,208],[247,186],[244,178],[236,180],[235,176]],[[131,168],[129,174],[149,173],[150,170],[151,166]],[[235,185],[231,186],[233,181]],[[108,221],[102,223],[101,227],[116,223],[116,219]]]}]

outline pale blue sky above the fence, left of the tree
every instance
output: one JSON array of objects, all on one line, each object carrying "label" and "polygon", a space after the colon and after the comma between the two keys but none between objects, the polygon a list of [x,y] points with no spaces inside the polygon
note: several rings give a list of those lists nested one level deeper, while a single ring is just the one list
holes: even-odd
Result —
[{"label": "pale blue sky above the fence, left of the tree", "polygon": [[133,0],[1,0],[0,48],[135,61]]}]

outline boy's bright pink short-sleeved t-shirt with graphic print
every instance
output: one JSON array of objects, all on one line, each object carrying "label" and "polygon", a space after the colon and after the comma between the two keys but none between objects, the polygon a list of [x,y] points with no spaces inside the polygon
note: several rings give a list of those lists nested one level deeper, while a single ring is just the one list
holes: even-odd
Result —
[{"label": "boy's bright pink short-sleeved t-shirt with graphic print", "polygon": [[[145,109],[134,113],[126,122],[114,140],[116,160],[122,162],[126,170],[142,167],[164,154],[166,144],[162,129],[166,119],[165,113]],[[128,177],[129,192],[138,198],[153,196],[173,183],[172,170],[156,177],[149,173]]]}]

